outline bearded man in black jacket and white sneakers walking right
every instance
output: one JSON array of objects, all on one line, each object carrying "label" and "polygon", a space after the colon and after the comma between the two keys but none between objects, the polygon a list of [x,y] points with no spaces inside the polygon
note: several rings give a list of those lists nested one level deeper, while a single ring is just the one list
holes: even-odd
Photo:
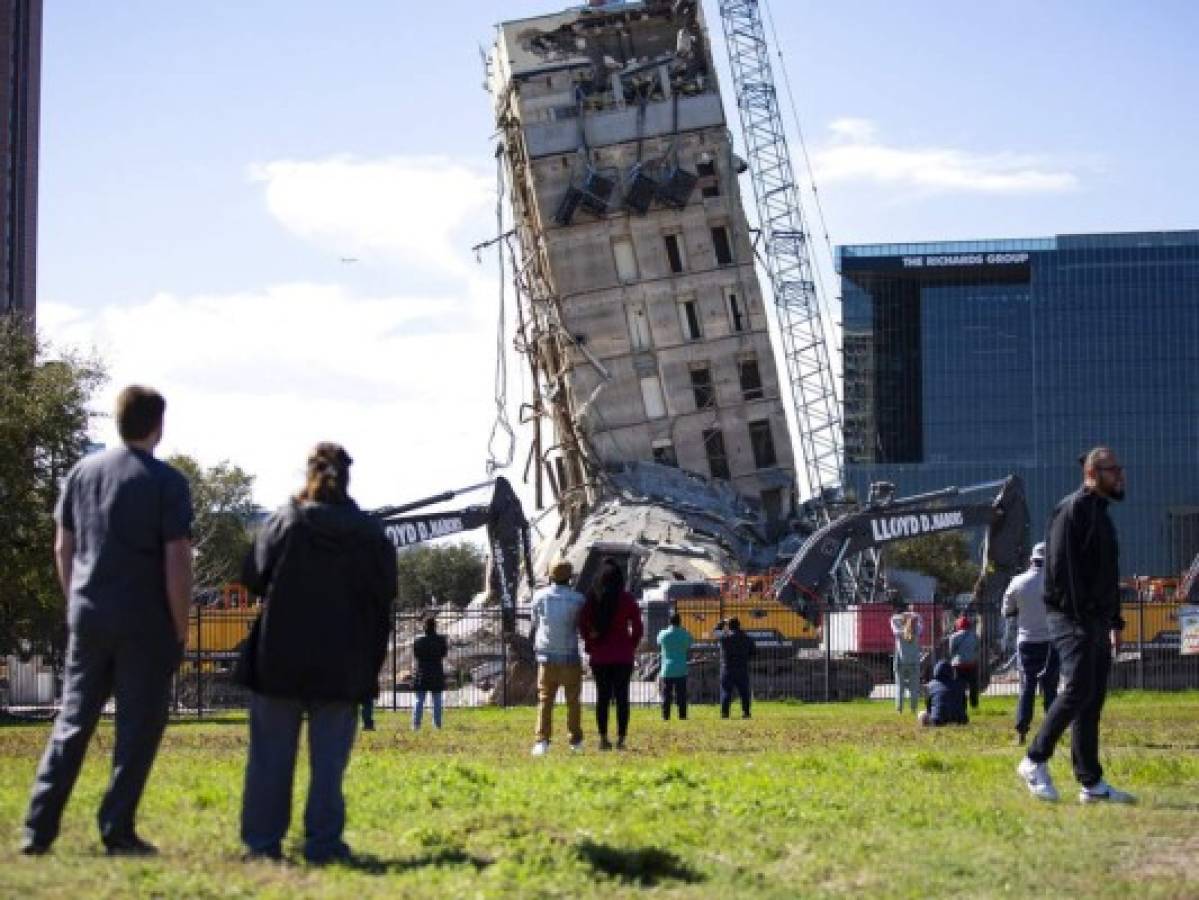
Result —
[{"label": "bearded man in black jacket and white sneakers walking right", "polygon": [[1056,801],[1049,757],[1071,727],[1074,777],[1083,803],[1134,803],[1131,793],[1103,779],[1099,714],[1108,693],[1113,646],[1119,647],[1120,550],[1108,503],[1125,495],[1123,466],[1107,447],[1083,459],[1083,487],[1049,517],[1044,600],[1049,636],[1061,660],[1066,688],[1054,700],[1017,772],[1034,797]]}]

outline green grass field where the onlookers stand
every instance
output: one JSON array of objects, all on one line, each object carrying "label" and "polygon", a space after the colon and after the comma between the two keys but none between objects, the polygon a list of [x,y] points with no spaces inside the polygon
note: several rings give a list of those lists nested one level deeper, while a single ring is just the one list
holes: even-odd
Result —
[{"label": "green grass field where the onlookers stand", "polygon": [[1066,748],[1053,762],[1062,802],[1029,797],[1011,713],[1010,699],[984,700],[969,727],[920,730],[870,702],[760,703],[749,721],[637,708],[629,750],[555,743],[542,760],[528,708],[448,711],[444,731],[418,735],[381,713],[347,778],[359,858],[326,869],[295,846],[285,864],[240,862],[239,719],[168,731],[140,817],[158,858],[101,853],[109,725],[53,853],[22,857],[46,726],[5,725],[0,894],[1199,896],[1199,695],[1109,699],[1104,762],[1134,808],[1080,807]]}]

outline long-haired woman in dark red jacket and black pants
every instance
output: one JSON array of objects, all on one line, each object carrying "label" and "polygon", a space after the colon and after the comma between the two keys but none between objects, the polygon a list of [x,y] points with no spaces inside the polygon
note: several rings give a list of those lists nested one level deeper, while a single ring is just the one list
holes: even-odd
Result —
[{"label": "long-haired woman in dark red jacket and black pants", "polygon": [[611,557],[603,561],[597,584],[588,591],[579,614],[579,630],[596,679],[600,749],[611,749],[608,707],[613,700],[616,701],[616,748],[623,749],[628,736],[628,682],[633,677],[633,654],[644,627],[637,600],[625,590],[625,573]]}]

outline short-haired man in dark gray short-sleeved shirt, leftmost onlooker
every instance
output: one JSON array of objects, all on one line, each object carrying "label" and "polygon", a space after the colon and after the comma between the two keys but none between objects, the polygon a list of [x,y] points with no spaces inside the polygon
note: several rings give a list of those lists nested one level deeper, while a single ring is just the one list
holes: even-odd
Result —
[{"label": "short-haired man in dark gray short-sleeved shirt, leftmost onlooker", "polygon": [[167,725],[170,679],[187,641],[192,499],[187,479],[153,457],[165,400],[131,386],[116,400],[122,447],[83,459],[55,511],[55,562],[67,597],[62,711],[37,767],[22,852],[59,833],[88,742],[116,700],[113,777],[100,805],[112,856],[155,853],[134,817]]}]

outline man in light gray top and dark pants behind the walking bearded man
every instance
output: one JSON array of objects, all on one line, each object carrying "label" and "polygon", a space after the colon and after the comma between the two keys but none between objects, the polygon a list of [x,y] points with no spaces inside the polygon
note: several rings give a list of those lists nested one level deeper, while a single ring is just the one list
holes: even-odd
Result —
[{"label": "man in light gray top and dark pants behind the walking bearded man", "polygon": [[1016,703],[1016,743],[1024,744],[1032,724],[1037,684],[1046,712],[1058,696],[1058,653],[1046,620],[1046,545],[1032,548],[1028,572],[1012,579],[1004,593],[1004,615],[1016,620],[1016,656],[1020,669],[1020,697]]}]

